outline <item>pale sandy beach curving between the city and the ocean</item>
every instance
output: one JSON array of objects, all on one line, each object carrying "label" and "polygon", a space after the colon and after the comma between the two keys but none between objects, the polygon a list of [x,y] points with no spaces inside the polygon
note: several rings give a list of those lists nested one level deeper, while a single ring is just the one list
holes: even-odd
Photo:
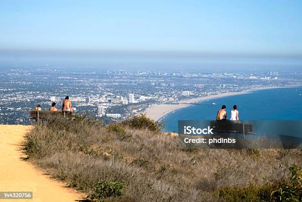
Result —
[{"label": "pale sandy beach curving between the city and the ocean", "polygon": [[193,98],[193,99],[189,99],[189,100],[177,101],[177,103],[179,103],[179,104],[164,104],[164,103],[157,104],[155,106],[148,107],[144,113],[146,114],[146,116],[148,118],[150,118],[154,121],[158,121],[163,116],[165,116],[177,109],[191,106],[192,104],[189,104],[188,102],[201,102],[201,101],[207,101],[207,100],[212,100],[212,99],[216,99],[216,98],[224,98],[224,97],[228,97],[228,96],[247,94],[247,93],[251,93],[253,91],[269,90],[269,89],[277,89],[277,88],[294,88],[294,87],[299,87],[299,86],[259,87],[259,88],[244,90],[244,91],[240,91],[240,92],[229,92],[229,93],[222,93],[222,94],[218,94],[218,95],[211,95],[211,96],[206,96],[206,97]]}]

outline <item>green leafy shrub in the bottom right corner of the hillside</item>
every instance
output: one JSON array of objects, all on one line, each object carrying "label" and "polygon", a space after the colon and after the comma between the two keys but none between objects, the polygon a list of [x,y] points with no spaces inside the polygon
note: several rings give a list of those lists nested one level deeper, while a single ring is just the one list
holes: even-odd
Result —
[{"label": "green leafy shrub in the bottom right corner of the hillside", "polygon": [[302,201],[302,169],[291,166],[291,184],[281,184],[276,191],[271,193],[275,201],[301,202]]}]

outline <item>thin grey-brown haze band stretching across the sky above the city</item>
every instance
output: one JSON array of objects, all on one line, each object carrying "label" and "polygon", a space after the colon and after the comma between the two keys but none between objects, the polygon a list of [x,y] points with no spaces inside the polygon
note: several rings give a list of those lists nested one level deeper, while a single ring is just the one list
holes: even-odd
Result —
[{"label": "thin grey-brown haze band stretching across the sky above the city", "polygon": [[12,56],[15,54],[31,56],[31,55],[49,55],[49,56],[169,56],[169,57],[238,57],[238,58],[301,58],[302,53],[286,53],[286,52],[247,52],[247,51],[181,51],[181,50],[134,50],[134,49],[28,49],[28,48],[1,48],[0,54]]}]

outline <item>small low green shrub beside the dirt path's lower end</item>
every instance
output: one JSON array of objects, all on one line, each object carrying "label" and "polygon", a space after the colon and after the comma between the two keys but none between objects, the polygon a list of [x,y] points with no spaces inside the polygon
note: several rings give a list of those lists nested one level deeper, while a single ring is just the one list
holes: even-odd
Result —
[{"label": "small low green shrub beside the dirt path's lower end", "polygon": [[95,202],[103,202],[108,197],[119,197],[122,194],[124,182],[103,181],[97,182],[94,187],[94,194],[90,199]]}]

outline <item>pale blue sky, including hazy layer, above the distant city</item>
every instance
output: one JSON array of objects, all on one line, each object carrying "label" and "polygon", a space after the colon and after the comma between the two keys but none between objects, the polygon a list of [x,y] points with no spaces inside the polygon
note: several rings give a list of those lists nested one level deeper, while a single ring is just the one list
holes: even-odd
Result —
[{"label": "pale blue sky, including hazy layer, above the distant city", "polygon": [[100,56],[300,64],[301,11],[301,0],[0,0],[0,65]]}]

